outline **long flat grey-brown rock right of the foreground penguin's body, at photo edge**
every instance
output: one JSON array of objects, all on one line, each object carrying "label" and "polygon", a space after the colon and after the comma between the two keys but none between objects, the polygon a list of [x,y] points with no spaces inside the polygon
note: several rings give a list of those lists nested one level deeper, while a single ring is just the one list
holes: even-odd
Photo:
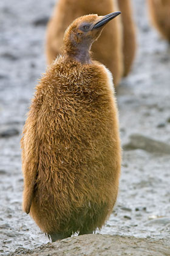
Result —
[{"label": "long flat grey-brown rock right of the foreground penguin's body, at photo edge", "polygon": [[125,151],[143,149],[151,153],[170,154],[170,145],[140,134],[132,134],[130,141],[123,145]]}]

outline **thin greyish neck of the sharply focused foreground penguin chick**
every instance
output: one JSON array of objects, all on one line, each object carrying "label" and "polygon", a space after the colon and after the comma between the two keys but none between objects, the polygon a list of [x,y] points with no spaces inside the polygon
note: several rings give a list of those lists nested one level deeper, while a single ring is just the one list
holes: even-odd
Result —
[{"label": "thin greyish neck of the sharply focused foreground penguin chick", "polygon": [[91,64],[90,48],[92,44],[81,43],[77,45],[70,45],[70,48],[66,49],[66,55],[81,64]]}]

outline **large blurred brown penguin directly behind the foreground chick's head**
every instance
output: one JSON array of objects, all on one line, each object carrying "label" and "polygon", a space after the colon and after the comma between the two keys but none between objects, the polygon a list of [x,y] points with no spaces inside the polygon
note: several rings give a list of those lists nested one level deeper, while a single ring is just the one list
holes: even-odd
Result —
[{"label": "large blurred brown penguin directly behind the foreground chick's head", "polygon": [[[89,13],[98,13],[102,16],[115,10],[117,10],[115,0],[59,0],[47,26],[47,62],[52,63],[56,56],[61,54],[64,31],[75,18]],[[109,68],[114,76],[115,86],[118,85],[123,74],[121,36],[121,20],[118,17],[107,24],[101,37],[92,46],[94,59]]]}]

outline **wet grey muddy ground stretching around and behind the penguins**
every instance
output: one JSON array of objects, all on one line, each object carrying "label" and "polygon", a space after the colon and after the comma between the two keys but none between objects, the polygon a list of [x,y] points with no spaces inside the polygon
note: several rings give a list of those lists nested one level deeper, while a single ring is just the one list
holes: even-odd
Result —
[{"label": "wet grey muddy ground stretching around and behind the penguins", "polygon": [[[46,248],[43,244],[49,242],[21,210],[23,178],[19,140],[33,88],[46,70],[45,24],[54,3],[54,0],[0,2],[1,255],[37,253],[36,247],[41,246],[41,251],[43,246]],[[101,230],[101,234],[108,236],[68,240],[68,243],[77,240],[79,245],[87,247],[90,241],[96,240],[94,248],[98,248],[98,254],[94,255],[112,255],[100,254],[103,251],[99,246],[101,241],[112,243],[112,235],[117,241],[115,250],[122,252],[116,255],[140,255],[134,252],[136,241],[140,241],[141,247],[152,243],[157,248],[150,254],[141,251],[141,255],[170,255],[170,49],[149,25],[144,1],[133,0],[133,3],[137,58],[132,73],[122,80],[117,91],[124,149],[117,204]],[[122,247],[121,236],[127,240]],[[127,244],[131,250],[126,254]],[[159,251],[161,247],[166,249],[165,254]]]}]

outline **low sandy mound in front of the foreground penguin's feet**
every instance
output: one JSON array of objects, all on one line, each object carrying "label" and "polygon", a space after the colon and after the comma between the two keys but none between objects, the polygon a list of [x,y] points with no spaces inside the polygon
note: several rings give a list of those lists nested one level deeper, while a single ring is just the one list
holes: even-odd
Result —
[{"label": "low sandy mound in front of the foreground penguin's feet", "polygon": [[[169,256],[164,240],[135,238],[134,236],[82,235],[53,244],[42,244],[37,249],[16,249],[14,255],[32,256]],[[169,243],[170,246],[170,243]]]}]

